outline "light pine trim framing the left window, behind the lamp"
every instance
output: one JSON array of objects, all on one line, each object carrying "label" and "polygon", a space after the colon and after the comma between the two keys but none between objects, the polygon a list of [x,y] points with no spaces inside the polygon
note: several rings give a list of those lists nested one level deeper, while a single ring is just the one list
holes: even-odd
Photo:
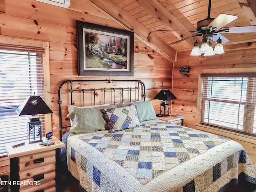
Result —
[{"label": "light pine trim framing the left window, behind the lamp", "polygon": [[[48,106],[51,104],[50,94],[50,60],[49,60],[49,43],[37,40],[26,40],[20,38],[10,38],[6,36],[0,36],[0,44],[10,44],[18,47],[29,46],[33,48],[44,48],[42,54],[42,65],[43,65],[43,86],[44,86],[44,102]],[[45,114],[45,132],[52,132],[52,114]]]}]

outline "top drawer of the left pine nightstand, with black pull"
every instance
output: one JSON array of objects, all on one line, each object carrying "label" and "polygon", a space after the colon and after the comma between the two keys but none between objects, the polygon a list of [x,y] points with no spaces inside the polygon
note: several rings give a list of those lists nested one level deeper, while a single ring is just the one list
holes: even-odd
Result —
[{"label": "top drawer of the left pine nightstand, with black pull", "polygon": [[[53,154],[53,155],[52,155]],[[55,150],[20,157],[20,172],[55,163]]]}]

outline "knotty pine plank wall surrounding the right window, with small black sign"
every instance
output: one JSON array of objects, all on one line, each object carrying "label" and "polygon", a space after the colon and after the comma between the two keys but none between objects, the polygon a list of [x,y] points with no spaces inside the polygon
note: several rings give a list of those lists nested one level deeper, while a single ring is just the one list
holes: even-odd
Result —
[{"label": "knotty pine plank wall surrounding the right window, with small black sign", "polygon": [[[214,134],[222,135],[231,138],[240,144],[248,152],[250,159],[254,162],[256,167],[256,138],[245,136],[243,134],[236,134],[234,132],[227,132],[218,129],[202,128],[196,126],[196,115],[198,112],[198,74],[199,70],[204,69],[223,69],[229,72],[229,69],[244,68],[249,71],[256,70],[256,42],[248,44],[241,44],[240,47],[229,46],[225,50],[225,54],[208,56],[206,58],[199,58],[198,56],[190,56],[189,51],[178,52],[177,62],[174,63],[173,70],[173,94],[177,96],[176,100],[172,102],[172,113],[182,114],[184,119],[184,126],[190,128],[197,128],[204,131],[212,132]],[[179,68],[190,66],[189,74],[180,74]],[[235,70],[239,72],[239,70]]]}]

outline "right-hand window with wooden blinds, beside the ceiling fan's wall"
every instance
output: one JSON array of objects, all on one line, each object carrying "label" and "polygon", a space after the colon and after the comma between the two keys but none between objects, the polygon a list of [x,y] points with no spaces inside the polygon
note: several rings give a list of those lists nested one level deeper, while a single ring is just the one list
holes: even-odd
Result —
[{"label": "right-hand window with wooden blinds, beside the ceiling fan's wall", "polygon": [[256,74],[201,74],[200,123],[256,134]]}]

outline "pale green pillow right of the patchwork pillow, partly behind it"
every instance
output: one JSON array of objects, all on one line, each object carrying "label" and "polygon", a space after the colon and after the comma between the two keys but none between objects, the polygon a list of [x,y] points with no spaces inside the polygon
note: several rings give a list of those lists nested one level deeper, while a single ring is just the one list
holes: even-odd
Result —
[{"label": "pale green pillow right of the patchwork pillow, partly behind it", "polygon": [[[116,107],[128,106],[130,103],[117,104]],[[151,101],[132,102],[136,106],[140,122],[157,119]]]}]

